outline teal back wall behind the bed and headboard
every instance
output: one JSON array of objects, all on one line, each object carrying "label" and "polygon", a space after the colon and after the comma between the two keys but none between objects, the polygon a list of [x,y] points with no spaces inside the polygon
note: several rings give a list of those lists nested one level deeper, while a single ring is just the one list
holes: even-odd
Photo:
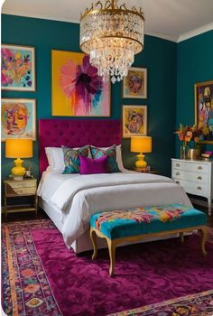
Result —
[{"label": "teal back wall behind the bed and headboard", "polygon": [[[36,91],[2,91],[2,98],[36,98],[38,131],[39,118],[51,118],[51,50],[79,51],[79,24],[3,14],[2,42],[35,47]],[[147,99],[122,98],[121,84],[112,85],[111,118],[121,119],[122,105],[147,105],[153,153],[148,153],[146,160],[165,175],[171,174],[171,157],[175,152],[176,51],[174,42],[145,36],[144,51],[136,55],[134,66],[148,69]],[[123,140],[123,159],[127,168],[133,168],[135,154],[129,151],[129,139]],[[33,159],[24,162],[32,163],[32,172],[38,177],[38,140],[33,146]],[[13,160],[5,159],[5,143],[2,143],[3,179],[12,165]]]}]

